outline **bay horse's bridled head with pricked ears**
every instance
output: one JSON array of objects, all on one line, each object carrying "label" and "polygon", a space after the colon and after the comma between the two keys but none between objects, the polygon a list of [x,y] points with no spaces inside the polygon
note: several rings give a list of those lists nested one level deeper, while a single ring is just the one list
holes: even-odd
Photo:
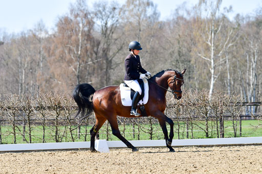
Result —
[{"label": "bay horse's bridled head with pricked ears", "polygon": [[182,98],[182,90],[181,87],[184,84],[183,74],[186,72],[186,69],[182,70],[182,72],[174,71],[174,76],[168,79],[168,86],[172,89],[172,93],[177,100]]}]

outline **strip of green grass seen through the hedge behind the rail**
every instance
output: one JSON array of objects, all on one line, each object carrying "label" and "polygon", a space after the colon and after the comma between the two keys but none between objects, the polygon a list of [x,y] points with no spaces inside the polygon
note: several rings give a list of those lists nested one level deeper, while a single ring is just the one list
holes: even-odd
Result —
[{"label": "strip of green grass seen through the hedge behind the rail", "polygon": [[[205,128],[203,125],[204,122],[195,122],[197,125],[201,126],[202,128]],[[178,133],[178,123],[174,122],[174,139],[186,139],[186,126],[184,122],[179,122],[180,130]],[[206,134],[203,130],[201,130],[197,125],[193,126],[193,138],[206,138]],[[81,136],[80,139],[77,138],[77,129],[73,131],[73,137],[74,141],[84,141],[84,136],[86,136],[86,141],[90,141],[90,135],[89,130],[92,126],[81,127]],[[225,137],[234,137],[233,128],[232,128],[232,121],[225,121],[224,122],[225,127]],[[22,127],[19,127],[20,130],[23,130]],[[64,133],[63,138],[59,138],[61,142],[71,142],[72,138],[69,133],[69,129],[66,129],[64,132],[65,127],[60,127],[59,134],[62,135]],[[100,139],[107,139],[107,124],[105,123],[104,126],[99,131]],[[138,129],[138,126],[135,125],[135,129],[133,131],[133,125],[125,125],[125,130],[123,125],[119,125],[119,130],[121,134],[127,139],[127,140],[148,140],[150,139],[149,125],[140,124],[140,129]],[[162,129],[159,125],[159,123],[156,123],[155,125],[152,125],[152,138],[151,139],[164,139],[164,135],[162,132]],[[167,125],[167,130],[169,131],[169,125]],[[1,126],[2,131],[2,143],[10,144],[14,143],[14,136],[12,134],[12,127],[11,126]],[[26,131],[28,131],[28,127],[26,127]],[[85,132],[87,133],[85,134]],[[16,128],[16,143],[27,143],[26,141],[23,141],[23,136],[21,136],[18,132],[18,128]],[[108,128],[108,140],[119,140],[117,137],[115,137],[112,134],[111,127]],[[189,126],[189,138],[192,138],[191,136],[191,127]],[[237,125],[237,137],[240,136],[239,132],[239,122]],[[262,136],[262,128],[261,128],[261,121],[257,120],[243,120],[242,121],[242,137],[257,137]],[[55,142],[54,138],[54,127],[46,127],[46,136],[45,136],[45,142]],[[214,125],[214,122],[209,122],[209,136],[208,138],[217,138],[216,135],[216,127]],[[26,139],[29,141],[29,136],[26,135]],[[42,142],[42,127],[41,126],[33,126],[32,128],[32,143],[40,143]]]}]

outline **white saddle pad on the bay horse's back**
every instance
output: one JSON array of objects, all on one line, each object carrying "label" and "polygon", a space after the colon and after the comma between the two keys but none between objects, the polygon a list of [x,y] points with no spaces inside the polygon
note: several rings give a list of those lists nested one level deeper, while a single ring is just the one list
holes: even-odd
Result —
[{"label": "white saddle pad on the bay horse's back", "polygon": [[[143,82],[144,82],[144,88],[145,88],[145,94],[144,94],[144,97],[143,97],[143,102],[141,100],[137,103],[137,105],[139,105],[139,104],[145,105],[148,102],[148,90],[149,90],[148,82],[145,78],[143,79]],[[131,97],[130,97],[131,88],[124,87],[123,83],[121,83],[119,87],[120,87],[122,105],[123,106],[132,106],[132,100],[131,100]]]}]

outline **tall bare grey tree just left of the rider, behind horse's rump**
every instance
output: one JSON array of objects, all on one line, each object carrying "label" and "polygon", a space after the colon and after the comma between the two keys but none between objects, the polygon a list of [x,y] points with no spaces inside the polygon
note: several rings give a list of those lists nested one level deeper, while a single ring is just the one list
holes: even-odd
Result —
[{"label": "tall bare grey tree just left of the rider, behind horse's rump", "polygon": [[109,4],[101,1],[94,4],[93,13],[99,29],[97,39],[100,44],[98,52],[95,54],[98,60],[101,59],[100,67],[103,75],[100,81],[104,81],[105,84],[103,85],[108,86],[111,85],[110,72],[115,69],[119,63],[122,63],[121,61],[115,60],[115,58],[124,45],[121,37],[123,31],[119,28],[123,10],[116,2]]}]

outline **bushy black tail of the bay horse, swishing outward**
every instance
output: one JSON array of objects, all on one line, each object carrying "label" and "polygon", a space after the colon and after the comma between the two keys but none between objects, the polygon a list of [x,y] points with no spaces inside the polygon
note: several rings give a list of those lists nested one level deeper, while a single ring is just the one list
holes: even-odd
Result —
[{"label": "bushy black tail of the bay horse, swishing outward", "polygon": [[93,112],[93,102],[89,101],[89,97],[95,93],[95,89],[88,83],[82,83],[73,90],[73,97],[78,106],[78,112],[75,118],[81,113],[80,121],[90,116]]}]

